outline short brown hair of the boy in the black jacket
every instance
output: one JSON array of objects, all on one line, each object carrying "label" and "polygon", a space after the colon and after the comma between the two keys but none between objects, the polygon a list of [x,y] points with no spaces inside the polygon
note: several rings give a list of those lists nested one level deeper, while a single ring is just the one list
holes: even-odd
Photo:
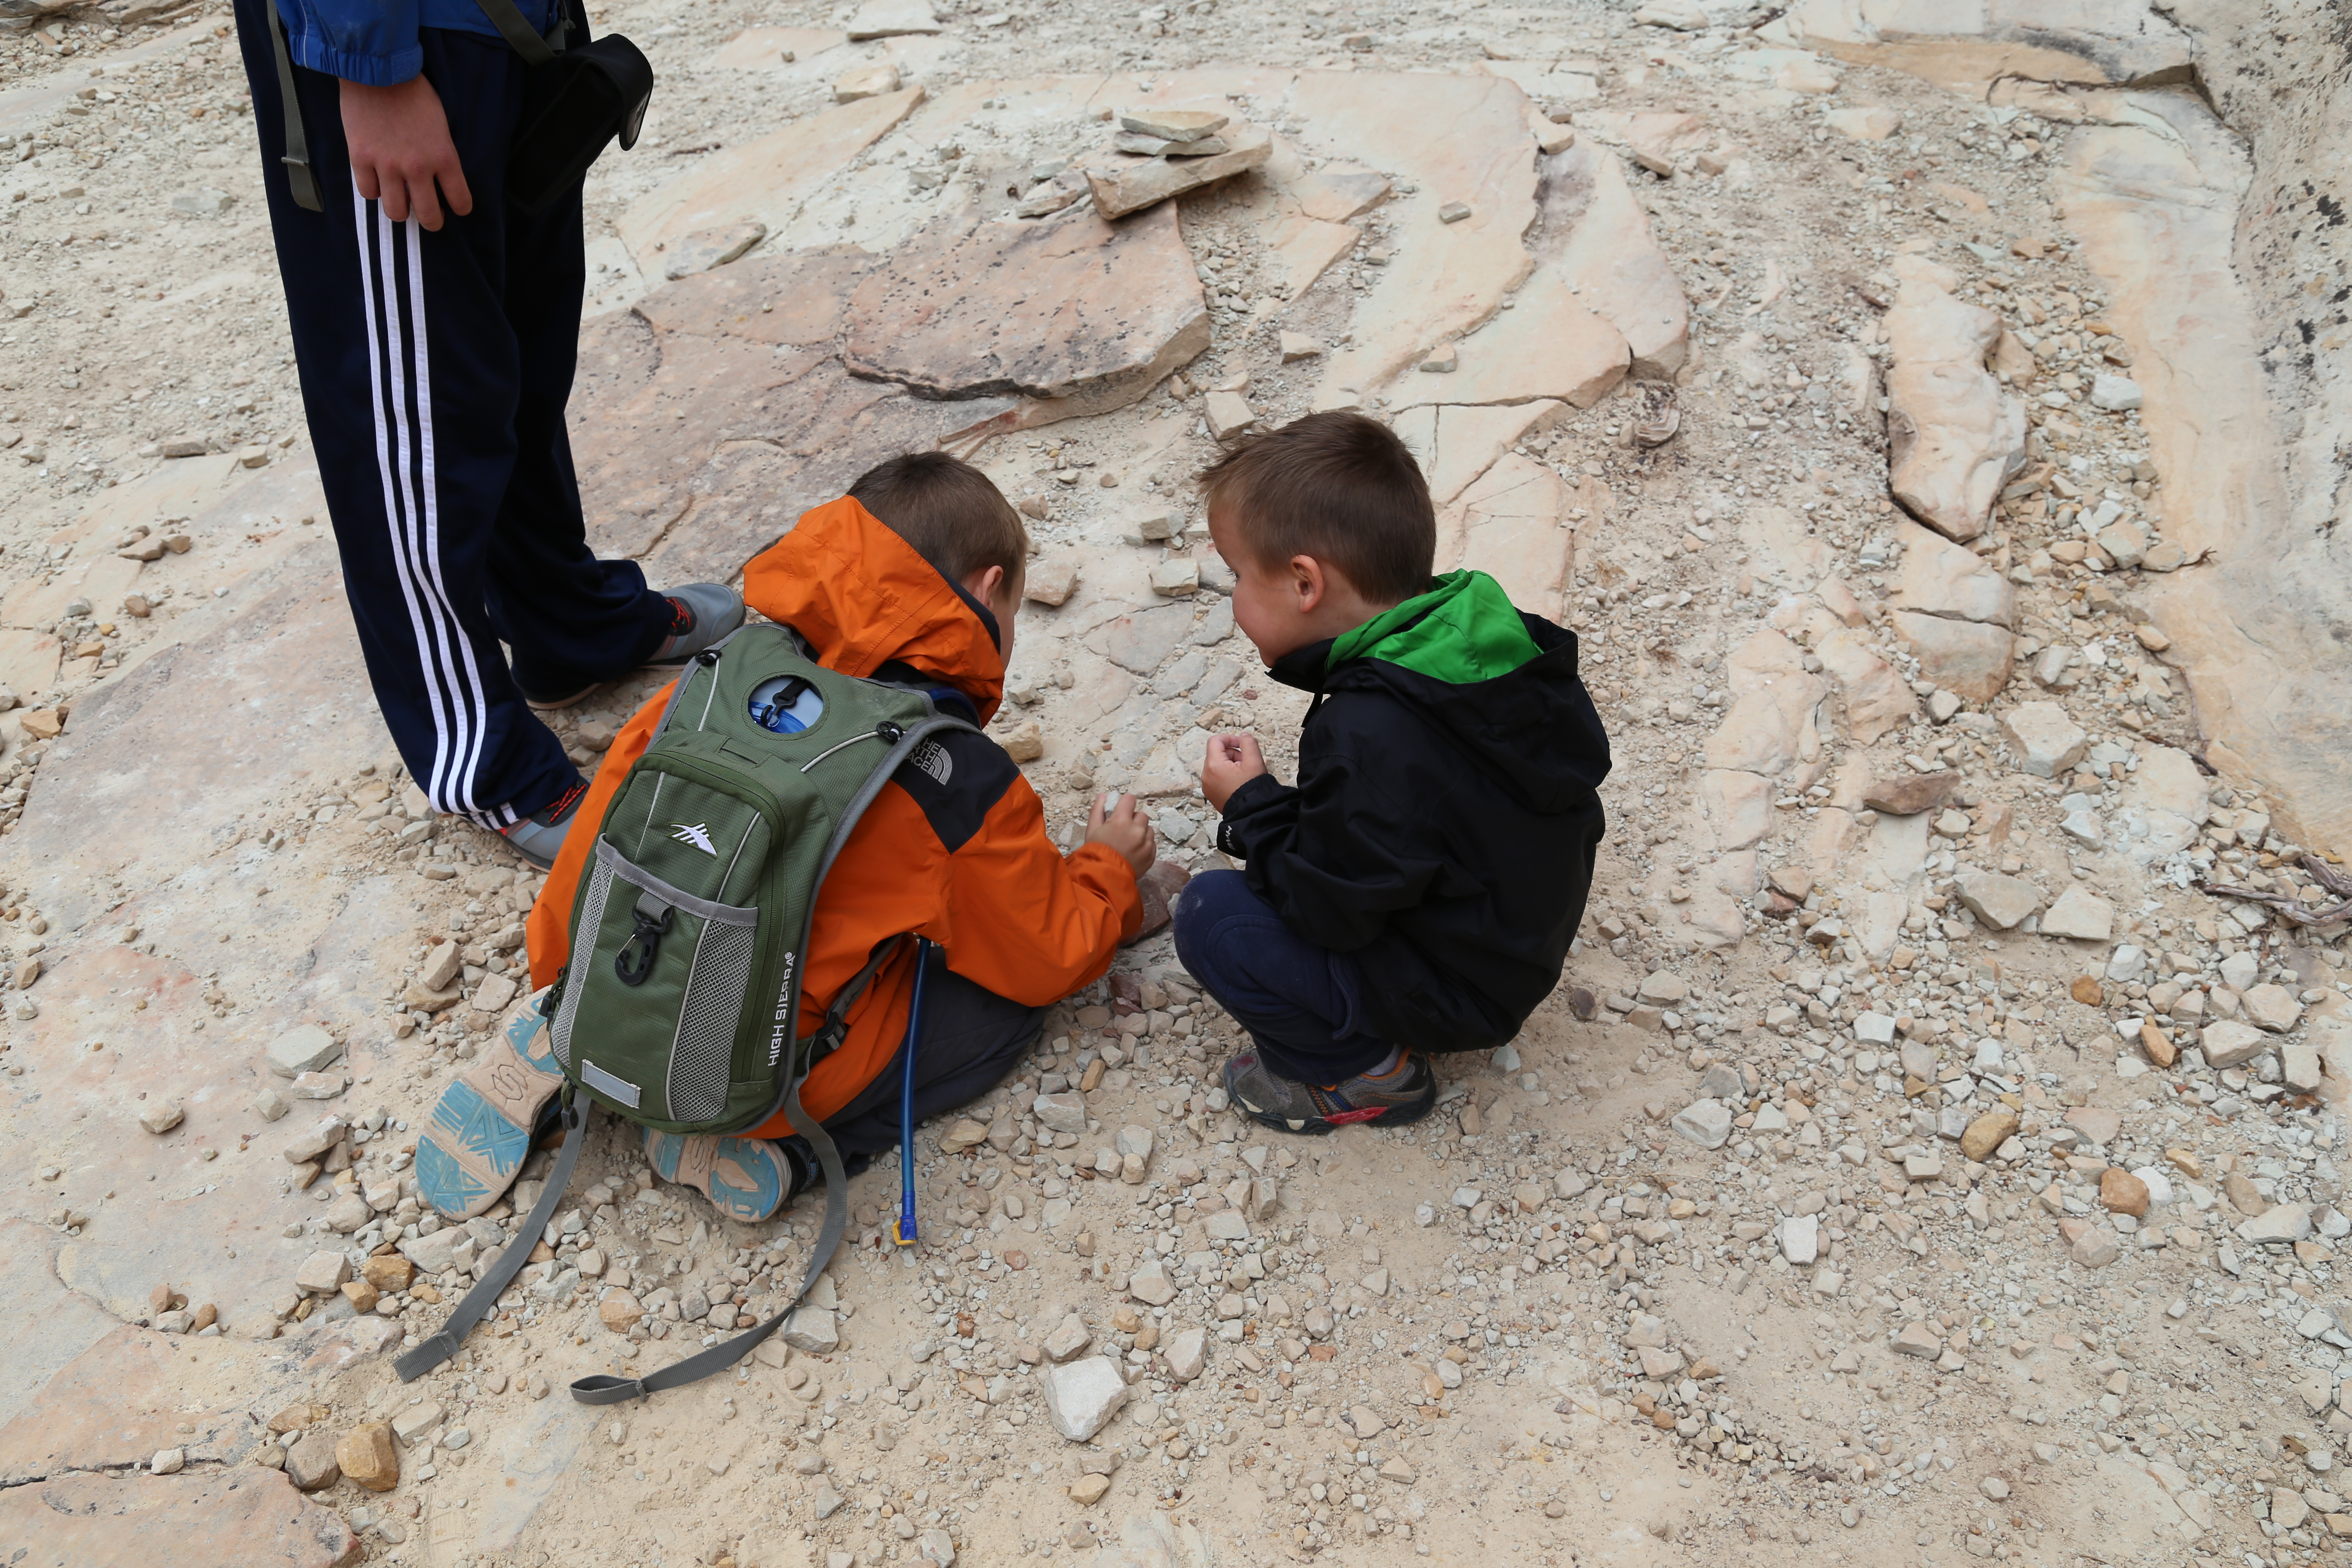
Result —
[{"label": "short brown hair of the boy in the black jacket", "polygon": [[1256,435],[1200,477],[1261,567],[1312,555],[1367,599],[1430,590],[1437,508],[1404,442],[1362,414],[1308,414]]}]

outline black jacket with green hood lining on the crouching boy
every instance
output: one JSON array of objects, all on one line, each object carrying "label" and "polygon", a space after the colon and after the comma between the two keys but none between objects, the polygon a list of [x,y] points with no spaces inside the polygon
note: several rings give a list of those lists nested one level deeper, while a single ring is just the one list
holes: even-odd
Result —
[{"label": "black jacket with green hood lining on the crouching boy", "polygon": [[1235,790],[1218,849],[1291,931],[1355,954],[1381,1039],[1508,1041],[1559,983],[1602,842],[1609,736],[1576,635],[1454,571],[1272,677],[1315,693],[1298,783]]}]

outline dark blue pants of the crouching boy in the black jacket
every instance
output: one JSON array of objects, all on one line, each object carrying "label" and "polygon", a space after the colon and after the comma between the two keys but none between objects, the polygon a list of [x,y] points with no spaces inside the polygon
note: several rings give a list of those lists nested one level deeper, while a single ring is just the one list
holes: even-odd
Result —
[{"label": "dark blue pants of the crouching boy in the black jacket", "polygon": [[1355,959],[1282,924],[1242,872],[1192,877],[1176,903],[1176,957],[1282,1077],[1329,1086],[1388,1056],[1364,1032]]}]

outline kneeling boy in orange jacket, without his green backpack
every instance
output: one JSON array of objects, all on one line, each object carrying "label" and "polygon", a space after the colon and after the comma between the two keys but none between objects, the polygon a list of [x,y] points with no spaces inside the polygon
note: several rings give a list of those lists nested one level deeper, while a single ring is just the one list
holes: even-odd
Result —
[{"label": "kneeling boy in orange jacket, without his green backpack", "polygon": [[[1028,534],[1004,494],[969,463],[922,451],[868,470],[844,498],[804,512],[743,569],[743,599],[797,630],[828,670],[917,686],[943,712],[988,724],[1004,691],[1025,557]],[[586,827],[564,842],[527,926],[534,987],[550,985],[564,964],[595,825],[666,701],[668,686],[630,717],[574,813]],[[1143,922],[1136,879],[1155,856],[1152,827],[1131,797],[1108,816],[1096,802],[1087,842],[1063,856],[1047,837],[1037,792],[1004,748],[967,731],[943,731],[938,745],[946,766],[898,769],[833,863],[816,900],[800,1011],[800,1034],[814,1034],[882,943],[929,938],[917,1119],[1002,1081],[1035,1044],[1044,1009],[1110,969],[1120,940]],[[901,943],[851,1006],[840,1048],[802,1084],[802,1105],[826,1124],[851,1171],[898,1143],[898,1051],[913,990],[915,945]],[[543,1039],[529,1048],[543,1053]],[[553,1070],[553,1060],[517,1056],[501,1039],[452,1084],[426,1133],[433,1157],[419,1147],[416,1159],[437,1208],[480,1213],[496,1201],[560,1086]],[[482,1138],[487,1121],[510,1135]],[[644,1138],[663,1178],[703,1190],[739,1220],[771,1215],[816,1178],[807,1145],[781,1114],[729,1138]],[[433,1171],[454,1166],[470,1166],[463,1180],[435,1182]]]}]

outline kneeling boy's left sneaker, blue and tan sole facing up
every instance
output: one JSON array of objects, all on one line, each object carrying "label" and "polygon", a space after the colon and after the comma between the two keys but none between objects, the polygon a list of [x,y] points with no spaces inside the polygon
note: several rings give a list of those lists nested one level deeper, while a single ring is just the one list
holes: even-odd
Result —
[{"label": "kneeling boy's left sneaker, blue and tan sole facing up", "polygon": [[557,1121],[564,1070],[548,1044],[539,992],[517,1006],[475,1063],[442,1091],[416,1140],[416,1192],[435,1213],[470,1220],[522,1171],[532,1140]]}]

